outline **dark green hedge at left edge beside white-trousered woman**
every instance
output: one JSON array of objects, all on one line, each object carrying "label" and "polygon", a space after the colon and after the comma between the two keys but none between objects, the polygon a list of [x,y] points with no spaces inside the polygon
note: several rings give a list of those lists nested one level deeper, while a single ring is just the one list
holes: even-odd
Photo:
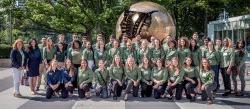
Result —
[{"label": "dark green hedge at left edge beside white-trousered woman", "polygon": [[12,47],[6,44],[0,44],[0,59],[9,58]]}]

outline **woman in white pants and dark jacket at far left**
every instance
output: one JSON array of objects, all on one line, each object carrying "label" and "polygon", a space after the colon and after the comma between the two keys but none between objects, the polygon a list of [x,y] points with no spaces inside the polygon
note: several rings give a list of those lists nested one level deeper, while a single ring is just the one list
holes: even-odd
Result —
[{"label": "woman in white pants and dark jacket at far left", "polygon": [[17,39],[13,44],[13,49],[10,53],[11,71],[13,73],[14,97],[22,97],[19,91],[20,81],[23,71],[27,65],[27,54],[24,51],[23,40]]}]

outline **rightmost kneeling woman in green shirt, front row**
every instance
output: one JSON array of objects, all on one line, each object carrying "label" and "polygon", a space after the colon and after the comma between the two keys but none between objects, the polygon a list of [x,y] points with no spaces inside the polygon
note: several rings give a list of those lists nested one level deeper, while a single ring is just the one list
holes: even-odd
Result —
[{"label": "rightmost kneeling woman in green shirt, front row", "polygon": [[201,61],[200,69],[200,80],[199,80],[199,90],[201,90],[201,99],[206,101],[208,98],[208,104],[213,103],[212,91],[216,88],[214,82],[214,71],[211,69],[209,61],[203,58]]}]

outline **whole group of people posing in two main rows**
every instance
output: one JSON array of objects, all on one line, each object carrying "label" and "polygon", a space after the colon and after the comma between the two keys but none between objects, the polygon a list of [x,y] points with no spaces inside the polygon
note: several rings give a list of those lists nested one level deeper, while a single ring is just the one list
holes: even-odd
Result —
[{"label": "whole group of people posing in two main rows", "polygon": [[163,41],[154,36],[141,39],[140,35],[130,40],[125,34],[121,41],[111,35],[105,43],[103,34],[98,34],[92,44],[88,38],[83,36],[79,40],[73,34],[72,42],[66,43],[65,36],[59,34],[57,43],[44,37],[41,44],[31,39],[27,49],[17,39],[10,54],[14,96],[22,97],[19,92],[22,72],[27,72],[32,95],[39,90],[41,75],[44,76],[48,99],[70,97],[75,89],[80,98],[90,98],[93,89],[96,96],[112,95],[114,100],[123,90],[124,100],[129,99],[130,93],[133,97],[180,100],[185,93],[193,102],[201,93],[202,100],[211,104],[220,89],[219,74],[225,88],[223,96],[244,95],[247,57],[244,40],[238,40],[233,47],[229,38],[200,40],[196,32],[191,39],[176,40],[166,35]]}]

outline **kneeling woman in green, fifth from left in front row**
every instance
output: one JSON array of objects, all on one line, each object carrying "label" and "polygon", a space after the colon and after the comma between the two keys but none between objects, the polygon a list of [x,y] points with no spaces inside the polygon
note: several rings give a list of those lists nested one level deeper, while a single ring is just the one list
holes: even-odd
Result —
[{"label": "kneeling woman in green, fifth from left in front row", "polygon": [[117,100],[117,97],[120,97],[122,94],[122,88],[125,82],[124,65],[119,55],[115,55],[109,67],[109,75],[111,78],[111,93],[113,94],[113,99]]}]

